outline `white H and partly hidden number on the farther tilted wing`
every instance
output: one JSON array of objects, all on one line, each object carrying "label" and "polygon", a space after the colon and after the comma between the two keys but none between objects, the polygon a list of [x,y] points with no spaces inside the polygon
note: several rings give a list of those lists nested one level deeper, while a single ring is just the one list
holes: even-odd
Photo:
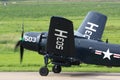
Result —
[{"label": "white H and partly hidden number on the farther tilted wing", "polygon": [[84,37],[87,37],[88,39],[90,39],[91,35],[93,32],[96,32],[95,27],[99,27],[99,25],[91,23],[91,22],[87,22],[87,24],[89,26],[85,26],[85,34]]}]

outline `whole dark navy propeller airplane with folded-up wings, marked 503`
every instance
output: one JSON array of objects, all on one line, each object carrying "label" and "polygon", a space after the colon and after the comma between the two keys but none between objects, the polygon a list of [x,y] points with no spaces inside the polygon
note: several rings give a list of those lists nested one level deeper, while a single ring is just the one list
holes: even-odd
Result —
[{"label": "whole dark navy propeller airplane with folded-up wings, marked 503", "polygon": [[22,28],[20,46],[20,62],[24,48],[38,52],[44,56],[44,66],[39,74],[49,74],[48,65],[52,63],[52,71],[60,73],[62,66],[79,66],[81,63],[103,66],[120,66],[120,45],[101,40],[107,22],[107,16],[90,11],[77,31],[73,30],[73,22],[63,17],[52,16],[48,32],[25,32]]}]

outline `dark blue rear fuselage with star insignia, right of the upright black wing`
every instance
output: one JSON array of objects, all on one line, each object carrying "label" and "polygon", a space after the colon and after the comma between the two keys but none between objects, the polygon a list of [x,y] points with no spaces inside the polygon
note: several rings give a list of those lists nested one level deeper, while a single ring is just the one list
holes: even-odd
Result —
[{"label": "dark blue rear fuselage with star insignia, right of the upright black wing", "polygon": [[76,57],[87,64],[120,66],[120,45],[75,38]]}]

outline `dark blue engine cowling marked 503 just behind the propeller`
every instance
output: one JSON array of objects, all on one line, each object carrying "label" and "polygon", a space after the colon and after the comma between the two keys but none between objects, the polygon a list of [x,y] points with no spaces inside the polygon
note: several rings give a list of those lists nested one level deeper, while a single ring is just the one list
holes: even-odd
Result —
[{"label": "dark blue engine cowling marked 503 just behind the propeller", "polygon": [[23,35],[22,46],[25,49],[38,51],[40,46],[40,36],[39,32],[26,32]]}]

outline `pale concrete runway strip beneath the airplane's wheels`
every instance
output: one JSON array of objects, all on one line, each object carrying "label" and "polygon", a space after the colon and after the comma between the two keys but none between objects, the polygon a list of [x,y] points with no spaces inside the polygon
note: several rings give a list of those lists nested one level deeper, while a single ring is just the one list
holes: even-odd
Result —
[{"label": "pale concrete runway strip beneath the airplane's wheels", "polygon": [[0,80],[120,80],[120,73],[50,72],[43,77],[38,72],[0,72]]}]

